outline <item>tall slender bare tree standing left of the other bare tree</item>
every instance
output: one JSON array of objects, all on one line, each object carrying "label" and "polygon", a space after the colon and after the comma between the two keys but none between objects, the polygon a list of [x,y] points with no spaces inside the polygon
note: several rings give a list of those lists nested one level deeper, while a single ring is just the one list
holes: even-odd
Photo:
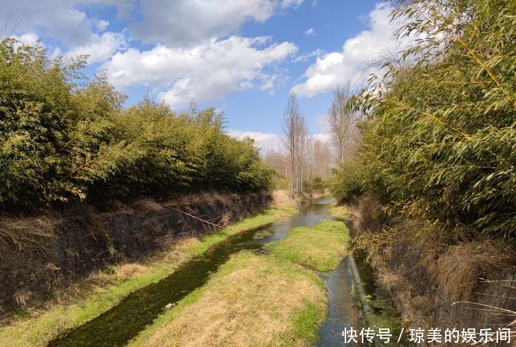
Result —
[{"label": "tall slender bare tree standing left of the other bare tree", "polygon": [[303,162],[308,141],[308,126],[301,114],[297,97],[290,94],[281,122],[284,136],[281,138],[290,164],[290,193],[303,192]]}]

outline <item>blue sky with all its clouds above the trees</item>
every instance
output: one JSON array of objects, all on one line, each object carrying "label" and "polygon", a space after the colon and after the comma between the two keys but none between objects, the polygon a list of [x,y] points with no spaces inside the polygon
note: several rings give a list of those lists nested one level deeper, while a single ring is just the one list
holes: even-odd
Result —
[{"label": "blue sky with all its clouds above the trees", "polygon": [[9,33],[50,56],[87,54],[128,98],[177,111],[192,100],[226,115],[226,131],[279,149],[296,93],[310,133],[327,140],[332,89],[361,87],[365,67],[405,44],[392,37],[395,2],[372,0],[0,0]]}]

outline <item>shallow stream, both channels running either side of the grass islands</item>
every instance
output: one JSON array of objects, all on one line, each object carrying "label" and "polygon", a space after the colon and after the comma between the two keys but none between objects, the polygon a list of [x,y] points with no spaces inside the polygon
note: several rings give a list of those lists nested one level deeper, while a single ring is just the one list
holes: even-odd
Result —
[{"label": "shallow stream, both channels running either side of the grass islands", "polygon": [[[47,346],[124,346],[152,324],[153,320],[164,311],[166,304],[174,304],[191,291],[201,287],[211,273],[215,273],[232,254],[243,250],[263,254],[266,252],[264,249],[266,243],[285,238],[289,230],[294,227],[336,220],[330,216],[331,203],[331,198],[317,199],[286,220],[230,236],[210,247],[204,254],[184,263],[170,276],[134,291],[118,305],[94,320],[59,335]],[[328,317],[321,327],[321,339],[317,344],[319,347],[347,346],[343,343],[341,335],[343,328],[349,326],[360,328],[363,322],[361,305],[356,304],[357,300],[352,298],[356,278],[354,280],[350,262],[358,265],[358,270],[365,266],[363,262],[355,263],[353,258],[347,257],[333,271],[319,273],[326,284],[329,303]],[[372,284],[369,281],[364,287],[372,285],[374,286],[374,282]],[[372,287],[369,291],[374,289]]]}]

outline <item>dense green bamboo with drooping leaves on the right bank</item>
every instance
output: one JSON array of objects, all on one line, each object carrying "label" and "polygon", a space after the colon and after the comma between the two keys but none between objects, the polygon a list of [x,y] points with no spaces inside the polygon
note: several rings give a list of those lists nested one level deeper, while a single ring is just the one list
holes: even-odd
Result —
[{"label": "dense green bamboo with drooping leaves on the right bank", "polygon": [[[401,36],[422,34],[353,100],[367,113],[356,170],[342,199],[365,189],[452,229],[516,235],[516,5],[411,1],[395,10]],[[470,229],[471,230],[471,229]]]}]

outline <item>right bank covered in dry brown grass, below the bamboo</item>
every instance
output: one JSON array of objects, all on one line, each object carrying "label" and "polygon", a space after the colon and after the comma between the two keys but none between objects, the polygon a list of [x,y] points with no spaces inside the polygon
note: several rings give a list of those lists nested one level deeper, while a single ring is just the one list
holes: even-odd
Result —
[{"label": "right bank covered in dry brown grass, below the bamboo", "polygon": [[389,291],[405,328],[516,328],[514,246],[447,240],[428,221],[393,221],[381,208],[374,199],[350,206],[354,238],[365,245],[378,284]]}]

